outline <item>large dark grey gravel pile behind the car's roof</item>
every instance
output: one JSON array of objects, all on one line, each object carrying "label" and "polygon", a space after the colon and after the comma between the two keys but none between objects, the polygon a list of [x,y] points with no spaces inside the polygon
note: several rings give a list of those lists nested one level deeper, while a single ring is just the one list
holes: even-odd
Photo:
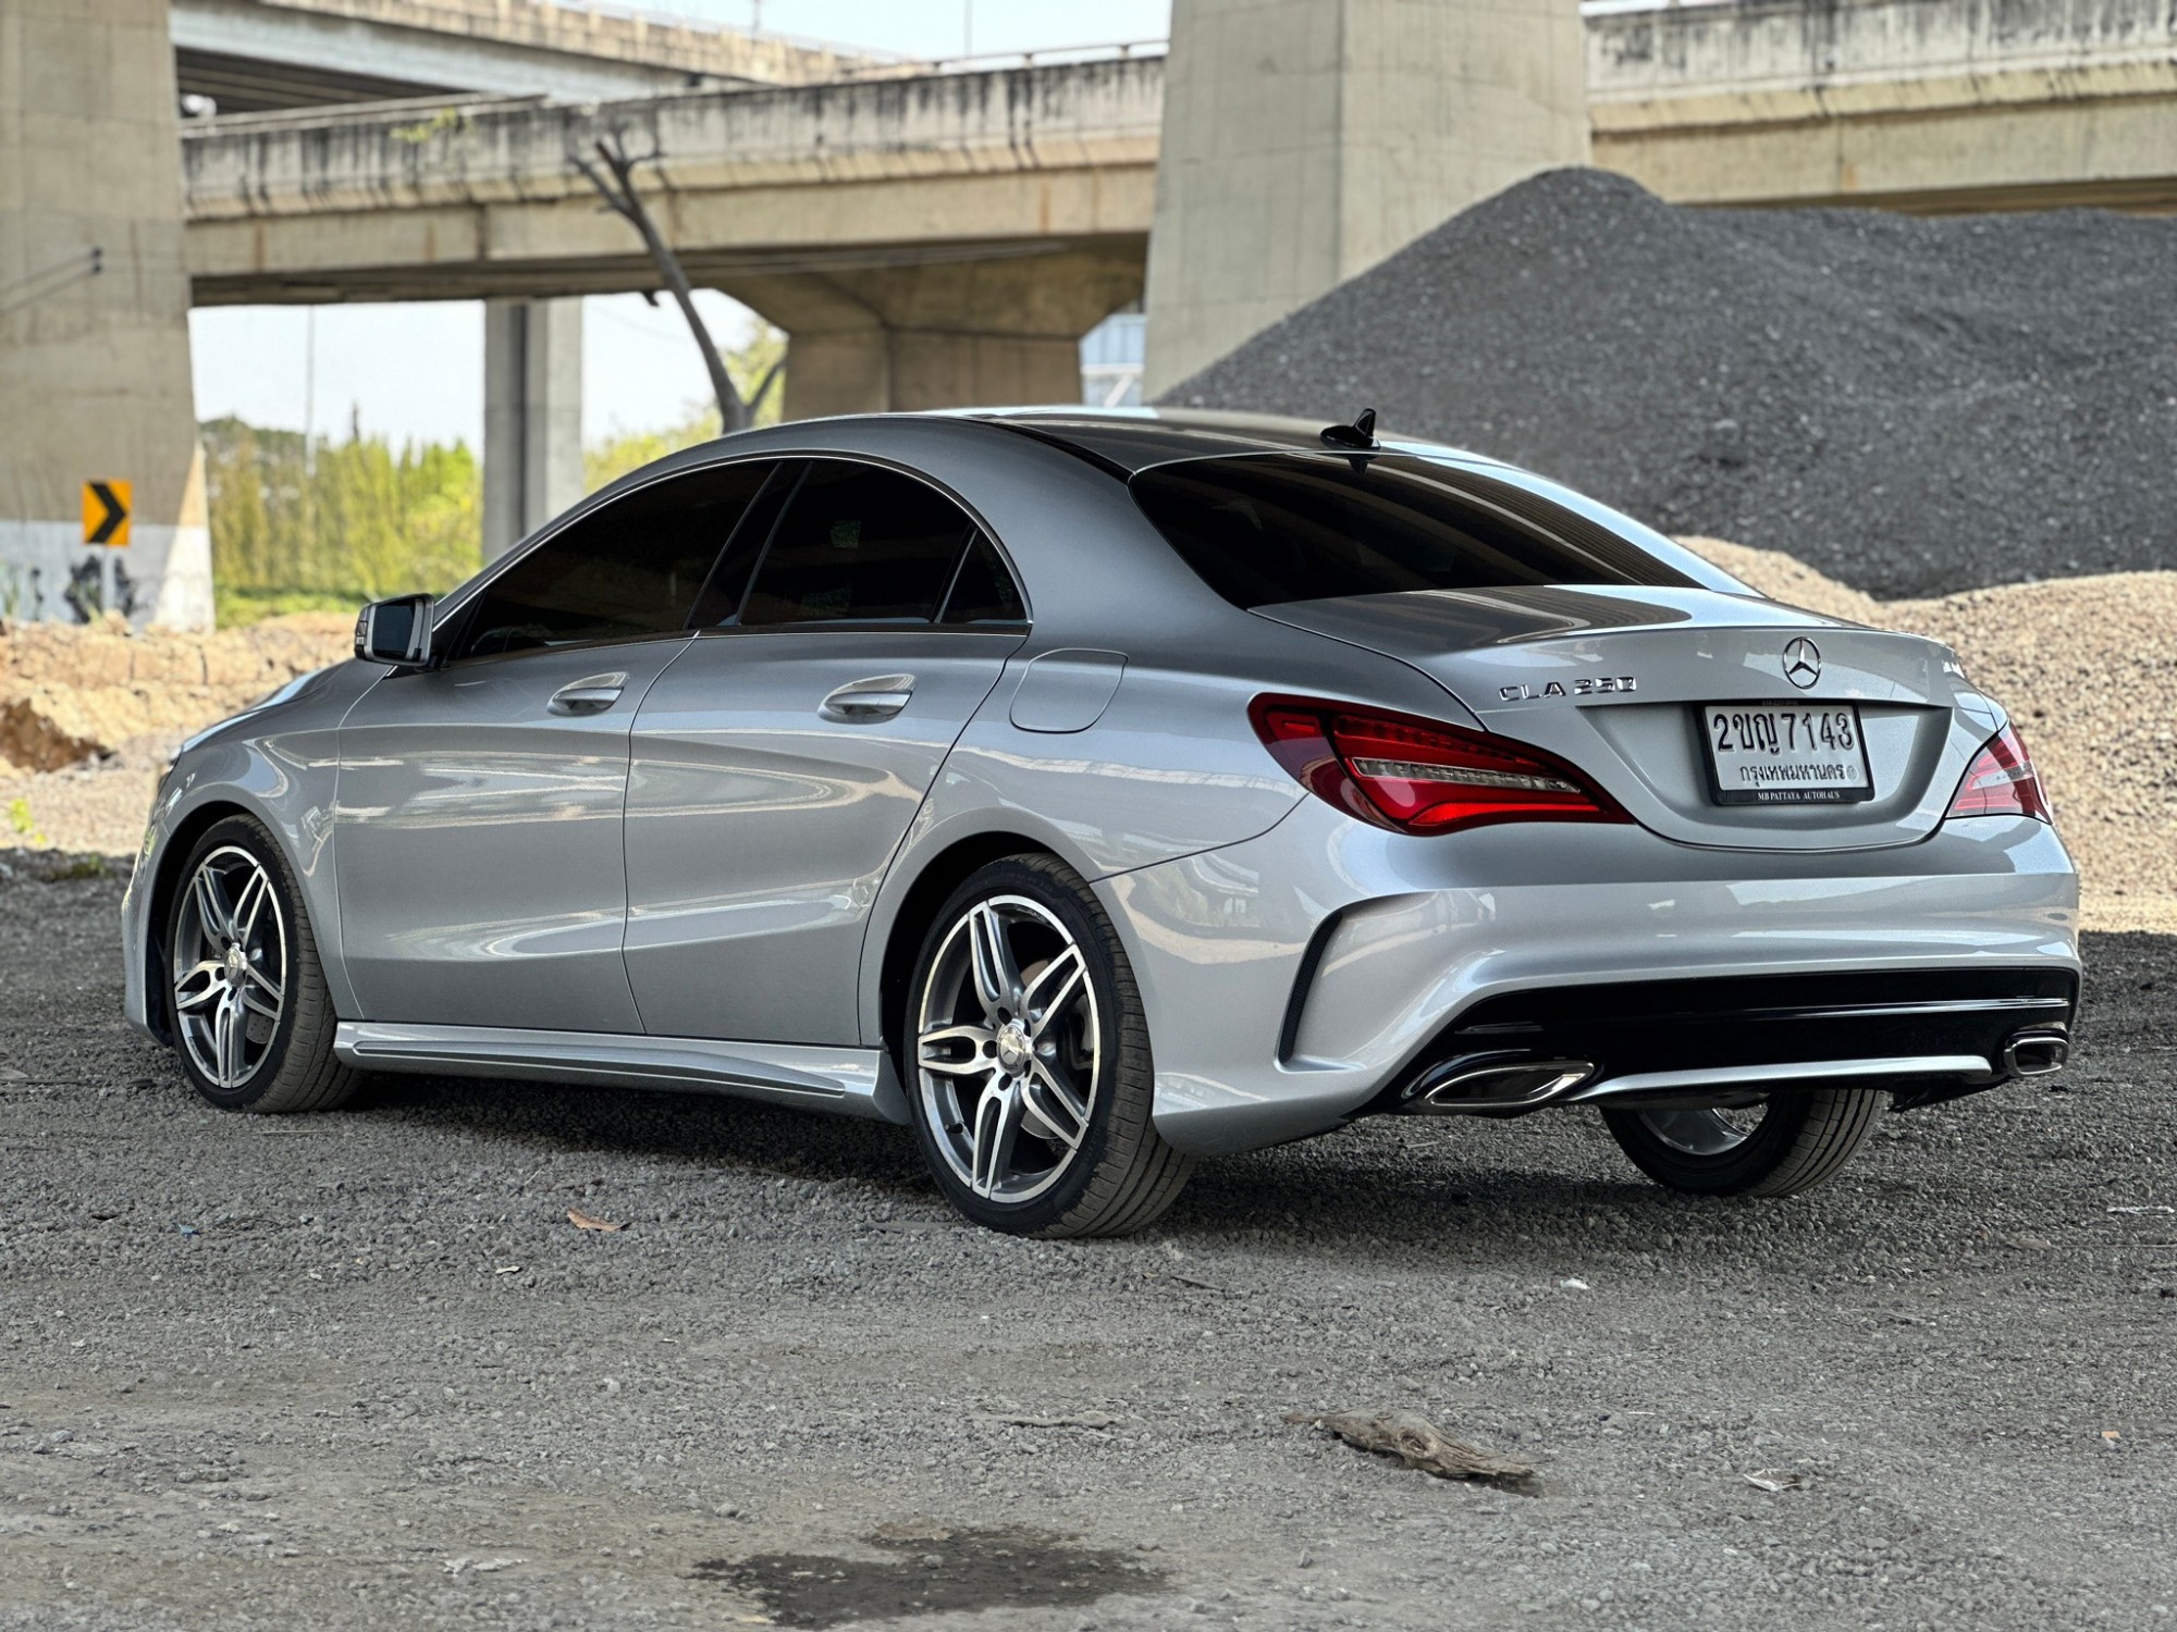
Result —
[{"label": "large dark grey gravel pile behind the car's roof", "polygon": [[1543,470],[1881,596],[2177,566],[2177,222],[1698,211],[1557,170],[1167,403]]}]

